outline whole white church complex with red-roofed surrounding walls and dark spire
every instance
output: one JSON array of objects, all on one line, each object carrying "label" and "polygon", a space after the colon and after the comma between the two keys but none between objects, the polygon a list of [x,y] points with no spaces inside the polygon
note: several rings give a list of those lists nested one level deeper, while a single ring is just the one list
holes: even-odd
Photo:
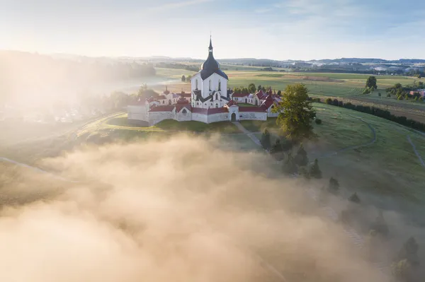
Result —
[{"label": "whole white church complex with red-roofed surrounding walls and dark spire", "polygon": [[171,93],[167,88],[160,95],[128,105],[128,119],[149,122],[153,126],[164,119],[179,122],[190,120],[205,122],[237,122],[239,120],[266,120],[276,117],[273,108],[280,98],[272,90],[257,93],[233,93],[227,88],[229,77],[220,69],[212,54],[212,41],[208,58],[200,71],[191,78],[191,93]]}]

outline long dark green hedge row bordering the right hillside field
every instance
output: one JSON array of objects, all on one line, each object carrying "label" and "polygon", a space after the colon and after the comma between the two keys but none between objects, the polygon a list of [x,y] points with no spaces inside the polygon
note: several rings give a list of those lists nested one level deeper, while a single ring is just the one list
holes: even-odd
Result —
[{"label": "long dark green hedge row bordering the right hillside field", "polygon": [[365,112],[366,114],[373,114],[377,117],[382,117],[384,119],[388,119],[392,122],[397,122],[397,124],[402,124],[405,127],[410,127],[412,129],[420,130],[425,132],[425,124],[422,122],[416,122],[413,119],[407,119],[407,117],[403,116],[395,116],[391,114],[390,111],[382,110],[378,107],[369,107],[363,105],[353,105],[351,102],[342,102],[337,99],[332,100],[331,98],[327,98],[325,101],[327,105],[334,105],[338,107],[345,107],[350,110],[355,110],[358,112]]}]

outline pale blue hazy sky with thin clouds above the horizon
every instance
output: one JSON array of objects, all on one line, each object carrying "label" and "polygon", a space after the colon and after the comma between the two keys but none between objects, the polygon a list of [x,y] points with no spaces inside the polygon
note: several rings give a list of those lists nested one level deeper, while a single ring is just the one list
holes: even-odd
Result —
[{"label": "pale blue hazy sky with thin clouds above the horizon", "polygon": [[0,49],[108,57],[425,59],[423,0],[0,0]]}]

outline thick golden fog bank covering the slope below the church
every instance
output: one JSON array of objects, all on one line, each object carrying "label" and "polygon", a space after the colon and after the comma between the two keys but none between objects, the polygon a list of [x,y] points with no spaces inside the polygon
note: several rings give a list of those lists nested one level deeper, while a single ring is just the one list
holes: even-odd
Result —
[{"label": "thick golden fog bank covering the slope below the church", "polygon": [[78,184],[20,172],[5,196],[45,199],[2,209],[0,281],[385,281],[295,180],[217,142],[180,136],[45,162]]}]

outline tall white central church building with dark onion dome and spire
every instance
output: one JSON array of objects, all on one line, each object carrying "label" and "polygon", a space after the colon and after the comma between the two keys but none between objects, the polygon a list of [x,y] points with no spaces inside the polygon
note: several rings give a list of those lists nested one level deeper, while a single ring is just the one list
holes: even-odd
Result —
[{"label": "tall white central church building with dark onion dome and spire", "polygon": [[227,81],[229,78],[220,69],[212,52],[212,40],[208,47],[208,58],[200,66],[198,74],[191,78],[192,107],[224,107],[227,103]]}]

